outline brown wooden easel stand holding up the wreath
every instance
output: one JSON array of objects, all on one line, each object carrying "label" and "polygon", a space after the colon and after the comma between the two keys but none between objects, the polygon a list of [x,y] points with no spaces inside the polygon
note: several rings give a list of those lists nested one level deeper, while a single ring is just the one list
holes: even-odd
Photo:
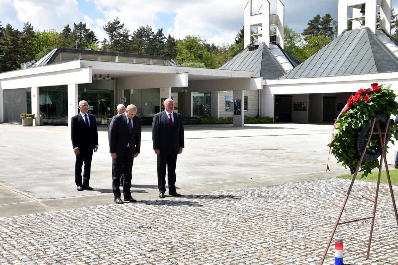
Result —
[{"label": "brown wooden easel stand holding up the wreath", "polygon": [[[388,121],[387,121],[387,123],[386,123],[386,128],[384,128],[384,131],[381,131],[379,125],[376,123],[376,118],[373,118],[372,125],[371,125],[371,128],[370,128],[370,130],[369,130],[369,137],[368,137],[368,140],[367,140],[367,142],[366,142],[365,148],[363,148],[363,152],[362,152],[362,154],[361,154],[361,158],[359,158],[359,162],[358,162],[358,165],[357,165],[357,170],[355,170],[354,176],[353,176],[352,181],[351,181],[351,185],[349,186],[349,189],[348,189],[348,191],[347,191],[347,195],[345,196],[343,206],[340,206],[340,205],[338,205],[337,203],[334,203],[334,202],[330,201],[330,203],[332,203],[333,205],[335,205],[335,206],[337,206],[337,207],[340,208],[340,213],[339,213],[339,216],[338,216],[338,218],[337,218],[336,224],[334,225],[334,228],[333,228],[333,231],[332,231],[332,235],[330,236],[328,245],[326,246],[325,253],[324,253],[324,255],[323,255],[322,259],[321,259],[320,265],[322,265],[322,264],[324,263],[326,254],[328,253],[328,250],[329,250],[329,247],[330,247],[330,243],[332,242],[332,239],[333,239],[334,233],[336,232],[337,226],[339,226],[340,224],[347,224],[347,223],[357,222],[357,221],[361,221],[361,220],[372,219],[371,232],[370,232],[370,235],[369,235],[368,251],[367,251],[367,254],[366,254],[366,259],[369,259],[369,251],[370,251],[370,249],[371,249],[371,241],[372,241],[373,226],[374,226],[374,224],[375,224],[376,206],[377,206],[377,197],[378,197],[378,188],[379,188],[379,186],[380,186],[380,175],[381,175],[381,169],[382,169],[383,160],[384,160],[384,166],[385,166],[385,168],[386,168],[388,186],[390,187],[390,194],[391,194],[391,199],[392,199],[392,205],[394,206],[395,219],[396,219],[396,221],[397,221],[397,226],[398,226],[397,208],[396,208],[396,205],[395,205],[394,193],[393,193],[393,191],[392,191],[390,173],[388,172],[386,154],[385,154],[385,152],[384,152],[384,149],[385,149],[385,148],[384,148],[384,143],[385,143],[385,140],[386,140],[387,129],[388,129],[388,124],[389,124],[389,123],[390,123],[390,119],[388,119]],[[376,128],[377,128],[377,131],[373,131],[375,125],[376,125]],[[361,163],[362,163],[362,160],[363,160],[363,156],[365,156],[366,149],[367,149],[367,147],[368,147],[368,145],[369,145],[369,141],[370,141],[371,136],[372,136],[373,134],[378,134],[378,136],[379,136],[379,138],[380,138],[380,146],[381,146],[381,159],[380,159],[380,166],[379,166],[379,169],[378,169],[378,179],[377,179],[377,186],[376,186],[376,196],[375,196],[375,199],[371,199],[371,198],[369,198],[369,197],[362,196],[362,198],[367,199],[368,201],[371,201],[371,202],[374,204],[374,205],[373,205],[373,214],[372,214],[372,216],[361,217],[361,218],[356,218],[356,219],[353,219],[353,220],[347,220],[347,221],[344,221],[344,222],[340,222],[341,215],[343,214],[344,207],[345,207],[345,205],[346,205],[346,203],[347,203],[347,200],[348,200],[349,194],[350,194],[350,192],[351,192],[352,186],[353,186],[353,184],[354,184],[355,178],[357,177],[359,168],[360,168],[360,166],[361,166]]]}]

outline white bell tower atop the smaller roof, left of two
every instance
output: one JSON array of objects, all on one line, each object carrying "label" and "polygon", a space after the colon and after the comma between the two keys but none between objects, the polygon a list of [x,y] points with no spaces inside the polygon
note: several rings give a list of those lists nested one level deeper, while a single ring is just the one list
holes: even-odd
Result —
[{"label": "white bell tower atop the smaller roof, left of two", "polygon": [[[264,42],[268,47],[272,42],[278,43],[283,49],[285,39],[285,5],[276,0],[276,13],[271,14],[268,0],[249,0],[244,9],[244,45]],[[276,34],[271,34],[269,27],[276,26]],[[275,40],[276,37],[276,40]],[[254,39],[254,43],[252,43]]]}]

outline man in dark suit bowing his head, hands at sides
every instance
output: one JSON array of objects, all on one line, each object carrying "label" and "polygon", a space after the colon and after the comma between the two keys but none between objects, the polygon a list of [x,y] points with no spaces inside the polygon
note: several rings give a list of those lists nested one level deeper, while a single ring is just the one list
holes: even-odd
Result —
[{"label": "man in dark suit bowing his head, hands at sides", "polygon": [[115,203],[121,204],[120,177],[124,168],[123,195],[124,200],[134,203],[131,197],[131,171],[134,158],[140,153],[141,118],[135,115],[137,107],[128,105],[126,112],[112,118],[108,128],[109,153],[112,156],[112,190]]}]

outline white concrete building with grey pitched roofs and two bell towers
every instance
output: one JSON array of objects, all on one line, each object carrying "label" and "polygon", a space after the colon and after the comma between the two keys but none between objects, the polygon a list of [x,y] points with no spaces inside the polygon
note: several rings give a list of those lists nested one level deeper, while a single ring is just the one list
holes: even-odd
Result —
[{"label": "white concrete building with grey pitched roofs and two bell towers", "polygon": [[98,123],[106,124],[119,103],[133,103],[138,115],[152,117],[168,97],[184,117],[203,115],[210,106],[211,116],[232,116],[239,127],[245,115],[332,121],[359,88],[373,82],[392,83],[393,89],[398,85],[391,0],[338,4],[338,37],[302,63],[283,49],[285,6],[280,0],[277,14],[270,13],[267,0],[247,2],[246,49],[219,69],[182,67],[155,55],[54,49],[20,70],[0,74],[0,122],[20,123],[20,113],[34,113],[35,125],[40,114],[45,125],[68,125],[84,99]]}]

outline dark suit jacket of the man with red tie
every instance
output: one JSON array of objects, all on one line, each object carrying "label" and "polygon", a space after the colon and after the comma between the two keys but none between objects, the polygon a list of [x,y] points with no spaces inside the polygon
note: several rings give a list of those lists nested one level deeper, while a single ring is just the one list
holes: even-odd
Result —
[{"label": "dark suit jacket of the man with red tie", "polygon": [[156,113],[152,122],[153,149],[160,149],[160,153],[178,153],[184,148],[184,125],[181,114],[173,112],[173,128],[165,111]]}]

